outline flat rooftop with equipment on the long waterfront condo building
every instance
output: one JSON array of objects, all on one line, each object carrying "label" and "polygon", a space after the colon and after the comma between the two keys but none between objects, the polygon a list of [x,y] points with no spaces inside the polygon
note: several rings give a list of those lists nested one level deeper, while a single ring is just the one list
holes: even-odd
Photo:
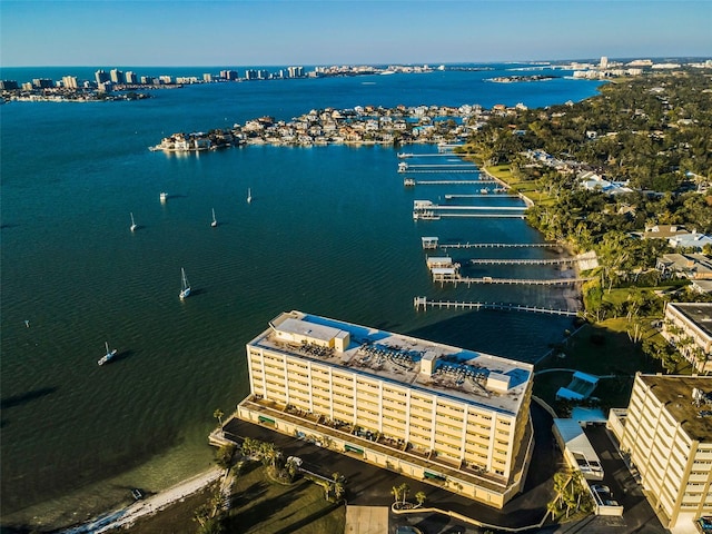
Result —
[{"label": "flat rooftop with equipment on the long waterfront condo building", "polygon": [[530,364],[301,312],[279,315],[249,345],[507,414],[533,376]]}]

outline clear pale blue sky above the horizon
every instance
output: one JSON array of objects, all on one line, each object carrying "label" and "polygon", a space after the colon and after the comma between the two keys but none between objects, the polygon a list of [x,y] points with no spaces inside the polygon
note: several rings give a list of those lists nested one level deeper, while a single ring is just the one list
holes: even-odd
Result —
[{"label": "clear pale blue sky above the horizon", "polygon": [[712,57],[711,28],[711,0],[1,0],[0,65]]}]

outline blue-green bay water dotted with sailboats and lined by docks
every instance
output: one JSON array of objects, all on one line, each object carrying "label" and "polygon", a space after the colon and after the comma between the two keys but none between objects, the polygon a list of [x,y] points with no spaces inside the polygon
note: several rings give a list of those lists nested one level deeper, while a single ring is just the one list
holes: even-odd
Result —
[{"label": "blue-green bay water dotted with sailboats and lined by docks", "polygon": [[[415,296],[566,303],[561,288],[434,285],[422,236],[483,243],[542,237],[518,219],[414,221],[414,199],[442,201],[446,194],[478,188],[404,188],[396,172],[402,149],[246,147],[188,156],[147,150],[175,131],[264,115],[288,120],[314,108],[537,107],[595,93],[595,82],[564,78],[483,81],[512,73],[505,69],[513,66],[494,68],[216,83],[156,90],[136,102],[1,106],[2,525],[79,522],[127,503],[131,487],[160,491],[210,465],[214,411],[233,412],[248,390],[245,344],[284,310],[527,362],[561,339],[570,319],[414,309]],[[93,70],[2,69],[1,77],[90,78]],[[145,73],[202,71],[209,70]],[[169,195],[165,204],[160,191]],[[211,209],[217,228],[210,227]],[[135,233],[130,212],[139,225]],[[464,264],[553,253],[449,254]],[[178,298],[181,267],[194,288],[185,301]],[[555,275],[551,267],[477,266],[468,273]],[[105,342],[118,357],[99,367]]]}]

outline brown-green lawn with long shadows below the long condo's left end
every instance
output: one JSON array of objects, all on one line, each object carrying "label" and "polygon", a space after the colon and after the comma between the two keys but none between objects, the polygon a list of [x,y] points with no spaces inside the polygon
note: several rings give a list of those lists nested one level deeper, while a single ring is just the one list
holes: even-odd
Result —
[{"label": "brown-green lawn with long shadows below the long condo's left end", "polygon": [[255,464],[233,486],[226,526],[226,532],[240,534],[344,532],[346,508],[327,502],[324,490],[309,481],[288,486],[270,482]]}]

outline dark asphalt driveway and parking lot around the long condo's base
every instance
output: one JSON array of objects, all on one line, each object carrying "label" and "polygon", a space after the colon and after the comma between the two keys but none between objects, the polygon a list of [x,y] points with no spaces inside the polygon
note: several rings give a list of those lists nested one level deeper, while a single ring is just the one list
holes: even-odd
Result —
[{"label": "dark asphalt driveway and parking lot around the long condo's base", "polygon": [[[269,427],[231,419],[225,425],[227,437],[240,441],[253,437],[273,442],[285,456],[298,456],[303,467],[313,473],[332,477],[338,472],[346,477],[346,498],[348,504],[363,506],[389,506],[393,502],[390,490],[407,483],[413,496],[422,491],[427,495],[425,506],[454,511],[464,516],[475,518],[483,524],[498,525],[510,528],[522,528],[536,525],[546,514],[546,503],[553,497],[552,478],[563,467],[564,459],[554,446],[552,418],[536,404],[532,404],[532,419],[536,446],[526,478],[524,492],[510,501],[503,510],[495,510],[465,497],[459,497],[437,486],[402,476],[378,468],[355,457],[339,454],[309,444],[291,436],[271,431]],[[531,533],[602,533],[602,534],[664,534],[660,521],[647,504],[640,486],[627,471],[617,449],[611,442],[604,426],[590,426],[586,436],[595,448],[605,472],[600,484],[610,488],[610,501],[616,501],[624,507],[622,517],[590,516],[578,524],[547,525],[532,528]],[[413,516],[390,513],[389,534],[395,534],[398,526],[413,526],[424,534],[482,534],[478,528],[463,521],[455,521],[442,514],[424,513]],[[496,528],[490,528],[496,532]]]}]

